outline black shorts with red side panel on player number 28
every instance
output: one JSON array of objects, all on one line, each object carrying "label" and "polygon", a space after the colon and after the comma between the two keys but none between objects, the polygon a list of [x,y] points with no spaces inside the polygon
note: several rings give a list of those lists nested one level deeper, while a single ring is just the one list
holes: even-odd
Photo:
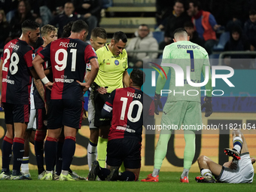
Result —
[{"label": "black shorts with red side panel on player number 28", "polygon": [[3,102],[5,123],[29,123],[29,105]]}]

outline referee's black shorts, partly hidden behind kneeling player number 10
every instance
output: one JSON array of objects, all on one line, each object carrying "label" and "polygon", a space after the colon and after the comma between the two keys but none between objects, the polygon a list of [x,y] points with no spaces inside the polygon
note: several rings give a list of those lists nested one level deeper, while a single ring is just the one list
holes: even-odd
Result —
[{"label": "referee's black shorts, partly hidden behind kneeling player number 10", "polygon": [[94,118],[94,126],[107,126],[111,125],[111,119],[102,117],[102,108],[105,102],[108,99],[110,93],[100,94],[96,93],[94,97],[94,105],[95,105],[95,118]]}]

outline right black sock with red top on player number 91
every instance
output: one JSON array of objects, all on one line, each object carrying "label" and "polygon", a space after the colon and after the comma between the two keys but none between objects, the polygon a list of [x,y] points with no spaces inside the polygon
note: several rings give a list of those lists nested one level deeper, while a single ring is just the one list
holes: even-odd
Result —
[{"label": "right black sock with red top on player number 91", "polygon": [[75,154],[75,137],[66,137],[62,148],[62,170],[69,171]]}]

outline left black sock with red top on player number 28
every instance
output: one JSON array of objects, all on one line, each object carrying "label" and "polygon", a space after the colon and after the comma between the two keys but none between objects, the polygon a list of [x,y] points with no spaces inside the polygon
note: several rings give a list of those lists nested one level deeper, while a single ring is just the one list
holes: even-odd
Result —
[{"label": "left black sock with red top on player number 28", "polygon": [[9,165],[11,161],[11,147],[13,145],[13,139],[5,136],[2,142],[2,171],[9,172]]}]

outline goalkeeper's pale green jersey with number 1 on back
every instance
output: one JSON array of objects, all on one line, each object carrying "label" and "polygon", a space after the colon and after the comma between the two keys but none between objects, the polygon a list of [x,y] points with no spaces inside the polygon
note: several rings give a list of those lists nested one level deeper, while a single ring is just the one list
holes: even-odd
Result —
[{"label": "goalkeeper's pale green jersey with number 1 on back", "polygon": [[[174,101],[197,101],[200,102],[200,89],[201,87],[194,87],[187,83],[187,73],[190,76],[190,81],[193,83],[201,82],[201,74],[206,75],[206,66],[209,66],[209,78],[210,74],[210,64],[209,56],[206,50],[198,44],[194,44],[190,41],[178,41],[166,46],[163,50],[163,63],[174,63],[179,66],[181,70],[175,70],[173,67],[169,67],[171,72],[171,79],[169,84],[169,90],[172,93],[168,94],[167,102]],[[187,66],[189,71],[187,72]],[[166,71],[166,70],[165,70]],[[168,71],[169,72],[169,71]],[[177,75],[177,72],[183,73],[183,79],[180,81],[184,82],[184,86],[175,86],[175,78],[180,78],[181,75]],[[181,78],[180,78],[181,79]],[[210,92],[212,96],[212,92]]]}]

